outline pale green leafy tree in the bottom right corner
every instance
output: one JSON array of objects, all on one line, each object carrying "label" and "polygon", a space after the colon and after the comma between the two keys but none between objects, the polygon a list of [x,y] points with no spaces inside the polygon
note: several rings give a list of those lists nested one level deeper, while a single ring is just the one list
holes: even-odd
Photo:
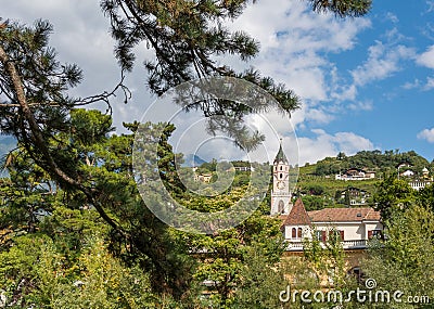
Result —
[{"label": "pale green leafy tree in the bottom right corner", "polygon": [[[386,291],[433,299],[434,214],[423,206],[410,205],[393,215],[384,243],[372,245],[362,263],[366,275]],[[392,304],[390,304],[392,305]],[[388,306],[390,306],[388,305]],[[394,308],[431,308],[429,304],[393,304]]]}]

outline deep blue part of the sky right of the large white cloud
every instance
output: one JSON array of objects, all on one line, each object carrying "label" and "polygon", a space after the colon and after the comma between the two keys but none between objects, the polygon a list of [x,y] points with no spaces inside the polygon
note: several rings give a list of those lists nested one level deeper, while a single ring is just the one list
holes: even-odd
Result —
[{"label": "deep blue part of the sky right of the large white cloud", "polygon": [[430,143],[434,132],[420,133],[434,126],[434,52],[429,52],[434,43],[433,9],[434,1],[374,2],[368,15],[371,26],[360,33],[356,47],[330,55],[347,83],[354,82],[352,73],[360,65],[369,64],[378,72],[376,76],[367,74],[354,100],[343,101],[369,105],[330,121],[324,130],[345,128],[382,150],[416,150],[434,158]]}]

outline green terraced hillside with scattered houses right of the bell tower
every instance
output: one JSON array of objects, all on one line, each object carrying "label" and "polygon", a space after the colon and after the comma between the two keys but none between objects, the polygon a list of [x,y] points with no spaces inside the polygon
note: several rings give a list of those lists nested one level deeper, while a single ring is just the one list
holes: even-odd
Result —
[{"label": "green terraced hillside with scattered houses right of the bell tower", "polygon": [[[411,170],[413,178],[420,178],[424,167],[431,175],[434,170],[433,162],[430,163],[413,151],[362,151],[354,156],[340,153],[336,157],[327,157],[301,167],[296,194],[302,196],[306,208],[310,210],[322,207],[371,206],[375,184],[385,175],[397,175],[398,165],[403,163],[409,166],[399,169],[399,172]],[[335,180],[336,175],[352,168],[372,171],[375,177],[367,180]]]}]

